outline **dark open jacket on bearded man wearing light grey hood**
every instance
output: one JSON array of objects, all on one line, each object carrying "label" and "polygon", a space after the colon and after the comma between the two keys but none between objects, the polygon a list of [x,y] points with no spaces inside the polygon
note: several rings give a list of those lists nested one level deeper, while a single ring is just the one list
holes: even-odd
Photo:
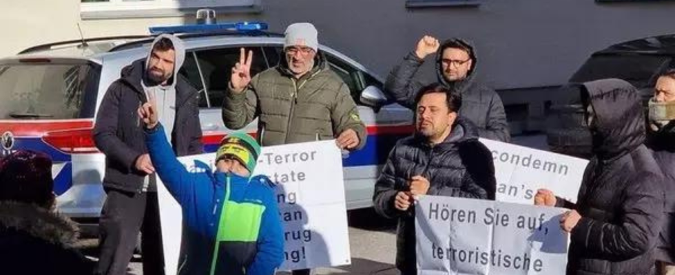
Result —
[{"label": "dark open jacket on bearded man wearing light grey hood", "polygon": [[[141,192],[146,176],[136,170],[136,159],[147,153],[143,122],[138,107],[147,102],[141,86],[145,61],[135,61],[122,69],[121,78],[110,85],[101,101],[94,125],[94,142],[105,154],[103,186],[127,192]],[[176,155],[203,152],[197,91],[178,76],[176,83],[176,120],[172,146]],[[152,191],[154,184],[149,187]]]}]

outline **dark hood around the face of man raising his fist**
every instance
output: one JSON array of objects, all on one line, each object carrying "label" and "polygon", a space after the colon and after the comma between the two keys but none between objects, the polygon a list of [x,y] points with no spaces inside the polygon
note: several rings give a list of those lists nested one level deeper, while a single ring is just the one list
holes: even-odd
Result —
[{"label": "dark hood around the face of man raising his fist", "polygon": [[[443,51],[446,50],[448,47],[460,47],[469,50],[469,58],[471,58],[472,65],[471,69],[469,69],[469,71],[466,73],[466,78],[450,82],[446,80],[445,76],[443,76],[443,65],[442,65]],[[445,87],[448,88],[459,89],[459,91],[463,90],[464,87],[468,86],[468,84],[472,82],[475,76],[477,65],[478,59],[476,57],[476,48],[474,47],[473,43],[471,43],[466,39],[452,38],[443,41],[443,43],[441,43],[441,46],[438,47],[438,51],[436,52],[436,77],[438,78],[439,83],[443,84]]]}]

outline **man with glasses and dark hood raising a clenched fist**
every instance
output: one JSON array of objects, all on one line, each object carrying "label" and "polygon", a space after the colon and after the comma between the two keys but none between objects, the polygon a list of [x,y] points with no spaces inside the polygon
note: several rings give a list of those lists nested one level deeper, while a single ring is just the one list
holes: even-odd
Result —
[{"label": "man with glasses and dark hood raising a clenched fist", "polygon": [[415,96],[422,84],[413,80],[424,58],[436,53],[438,82],[449,91],[461,94],[459,116],[478,126],[480,137],[509,142],[508,122],[499,95],[475,80],[478,59],[476,50],[464,39],[448,39],[444,43],[431,36],[424,36],[415,51],[404,57],[402,63],[389,73],[384,92],[396,102],[410,109],[415,108]]}]

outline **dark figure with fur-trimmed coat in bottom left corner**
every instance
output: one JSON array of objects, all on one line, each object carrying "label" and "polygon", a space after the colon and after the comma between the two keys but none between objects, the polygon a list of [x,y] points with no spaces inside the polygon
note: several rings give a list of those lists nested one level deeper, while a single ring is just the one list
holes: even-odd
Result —
[{"label": "dark figure with fur-trimmed coat in bottom left corner", "polygon": [[52,159],[16,151],[0,159],[0,268],[7,275],[92,274],[74,245],[74,222],[54,212]]}]

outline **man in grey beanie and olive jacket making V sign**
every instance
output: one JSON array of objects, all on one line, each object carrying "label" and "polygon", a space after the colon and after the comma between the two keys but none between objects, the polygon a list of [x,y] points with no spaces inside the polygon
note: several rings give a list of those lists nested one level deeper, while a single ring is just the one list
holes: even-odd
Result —
[{"label": "man in grey beanie and olive jacket making V sign", "polygon": [[262,146],[337,138],[342,149],[362,148],[366,128],[349,87],[330,69],[318,46],[311,23],[291,24],[280,64],[254,77],[253,52],[247,55],[242,48],[222,102],[225,126],[241,129],[258,118]]}]

